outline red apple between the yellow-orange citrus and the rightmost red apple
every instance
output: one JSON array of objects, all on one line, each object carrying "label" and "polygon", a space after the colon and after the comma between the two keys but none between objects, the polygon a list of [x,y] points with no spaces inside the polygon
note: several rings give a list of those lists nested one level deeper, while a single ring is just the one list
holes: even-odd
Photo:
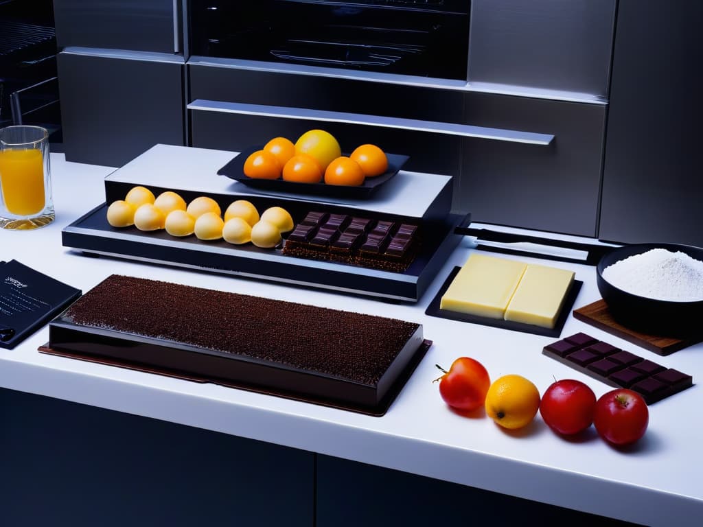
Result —
[{"label": "red apple between the yellow-orange citrus and the rightmost red apple", "polygon": [[574,379],[554,382],[544,392],[539,404],[542,419],[559,434],[578,434],[591,426],[595,393]]}]

